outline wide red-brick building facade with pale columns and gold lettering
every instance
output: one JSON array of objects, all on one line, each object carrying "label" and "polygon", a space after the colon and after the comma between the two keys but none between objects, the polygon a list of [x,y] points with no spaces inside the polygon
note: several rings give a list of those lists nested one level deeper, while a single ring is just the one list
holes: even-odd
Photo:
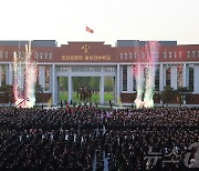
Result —
[{"label": "wide red-brick building facade with pale columns and gold lettering", "polygon": [[[13,53],[24,57],[28,41],[0,41],[0,86],[13,84]],[[69,42],[56,44],[54,40],[33,40],[32,60],[38,63],[38,82],[44,92],[51,93],[53,104],[59,102],[59,78],[67,77],[69,101],[73,94],[74,77],[100,78],[100,103],[104,103],[104,79],[114,80],[114,101],[133,103],[136,97],[135,68],[147,68],[148,57],[156,58],[155,89],[165,86],[191,90],[189,104],[199,104],[199,44],[177,44],[159,41],[156,51],[148,50],[148,41],[118,40],[115,47],[104,42]]]}]

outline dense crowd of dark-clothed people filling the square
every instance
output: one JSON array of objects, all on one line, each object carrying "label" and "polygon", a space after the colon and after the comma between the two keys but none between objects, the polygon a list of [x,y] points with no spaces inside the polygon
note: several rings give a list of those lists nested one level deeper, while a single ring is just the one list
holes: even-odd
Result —
[{"label": "dense crowd of dark-clothed people filling the square", "polygon": [[0,170],[195,170],[198,128],[197,108],[1,108]]}]

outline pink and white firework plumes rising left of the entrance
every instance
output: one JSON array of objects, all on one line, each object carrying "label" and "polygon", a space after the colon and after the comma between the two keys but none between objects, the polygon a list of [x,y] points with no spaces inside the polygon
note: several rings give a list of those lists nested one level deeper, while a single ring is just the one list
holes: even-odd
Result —
[{"label": "pink and white firework plumes rising left of the entrance", "polygon": [[[32,108],[35,104],[35,81],[36,63],[31,61],[31,46],[25,46],[25,56],[17,57],[14,52],[13,71],[14,71],[14,104],[21,108]],[[27,99],[27,100],[24,100]]]}]

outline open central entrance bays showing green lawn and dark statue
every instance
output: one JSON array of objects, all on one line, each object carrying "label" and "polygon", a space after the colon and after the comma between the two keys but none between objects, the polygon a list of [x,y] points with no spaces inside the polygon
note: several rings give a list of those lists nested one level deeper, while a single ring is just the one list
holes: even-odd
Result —
[{"label": "open central entrance bays showing green lawn and dark statue", "polygon": [[[104,77],[104,102],[115,100],[114,77]],[[69,77],[57,79],[59,103],[69,101]],[[72,102],[92,101],[100,102],[101,77],[72,77]]]}]

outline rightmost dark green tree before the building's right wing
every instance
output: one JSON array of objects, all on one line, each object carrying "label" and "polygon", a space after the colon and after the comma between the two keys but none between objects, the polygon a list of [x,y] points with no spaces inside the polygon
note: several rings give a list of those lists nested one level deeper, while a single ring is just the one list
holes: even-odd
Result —
[{"label": "rightmost dark green tree before the building's right wing", "polygon": [[176,95],[177,95],[177,101],[181,107],[184,100],[187,101],[188,97],[190,95],[190,90],[186,87],[178,87],[178,89],[176,90]]}]

